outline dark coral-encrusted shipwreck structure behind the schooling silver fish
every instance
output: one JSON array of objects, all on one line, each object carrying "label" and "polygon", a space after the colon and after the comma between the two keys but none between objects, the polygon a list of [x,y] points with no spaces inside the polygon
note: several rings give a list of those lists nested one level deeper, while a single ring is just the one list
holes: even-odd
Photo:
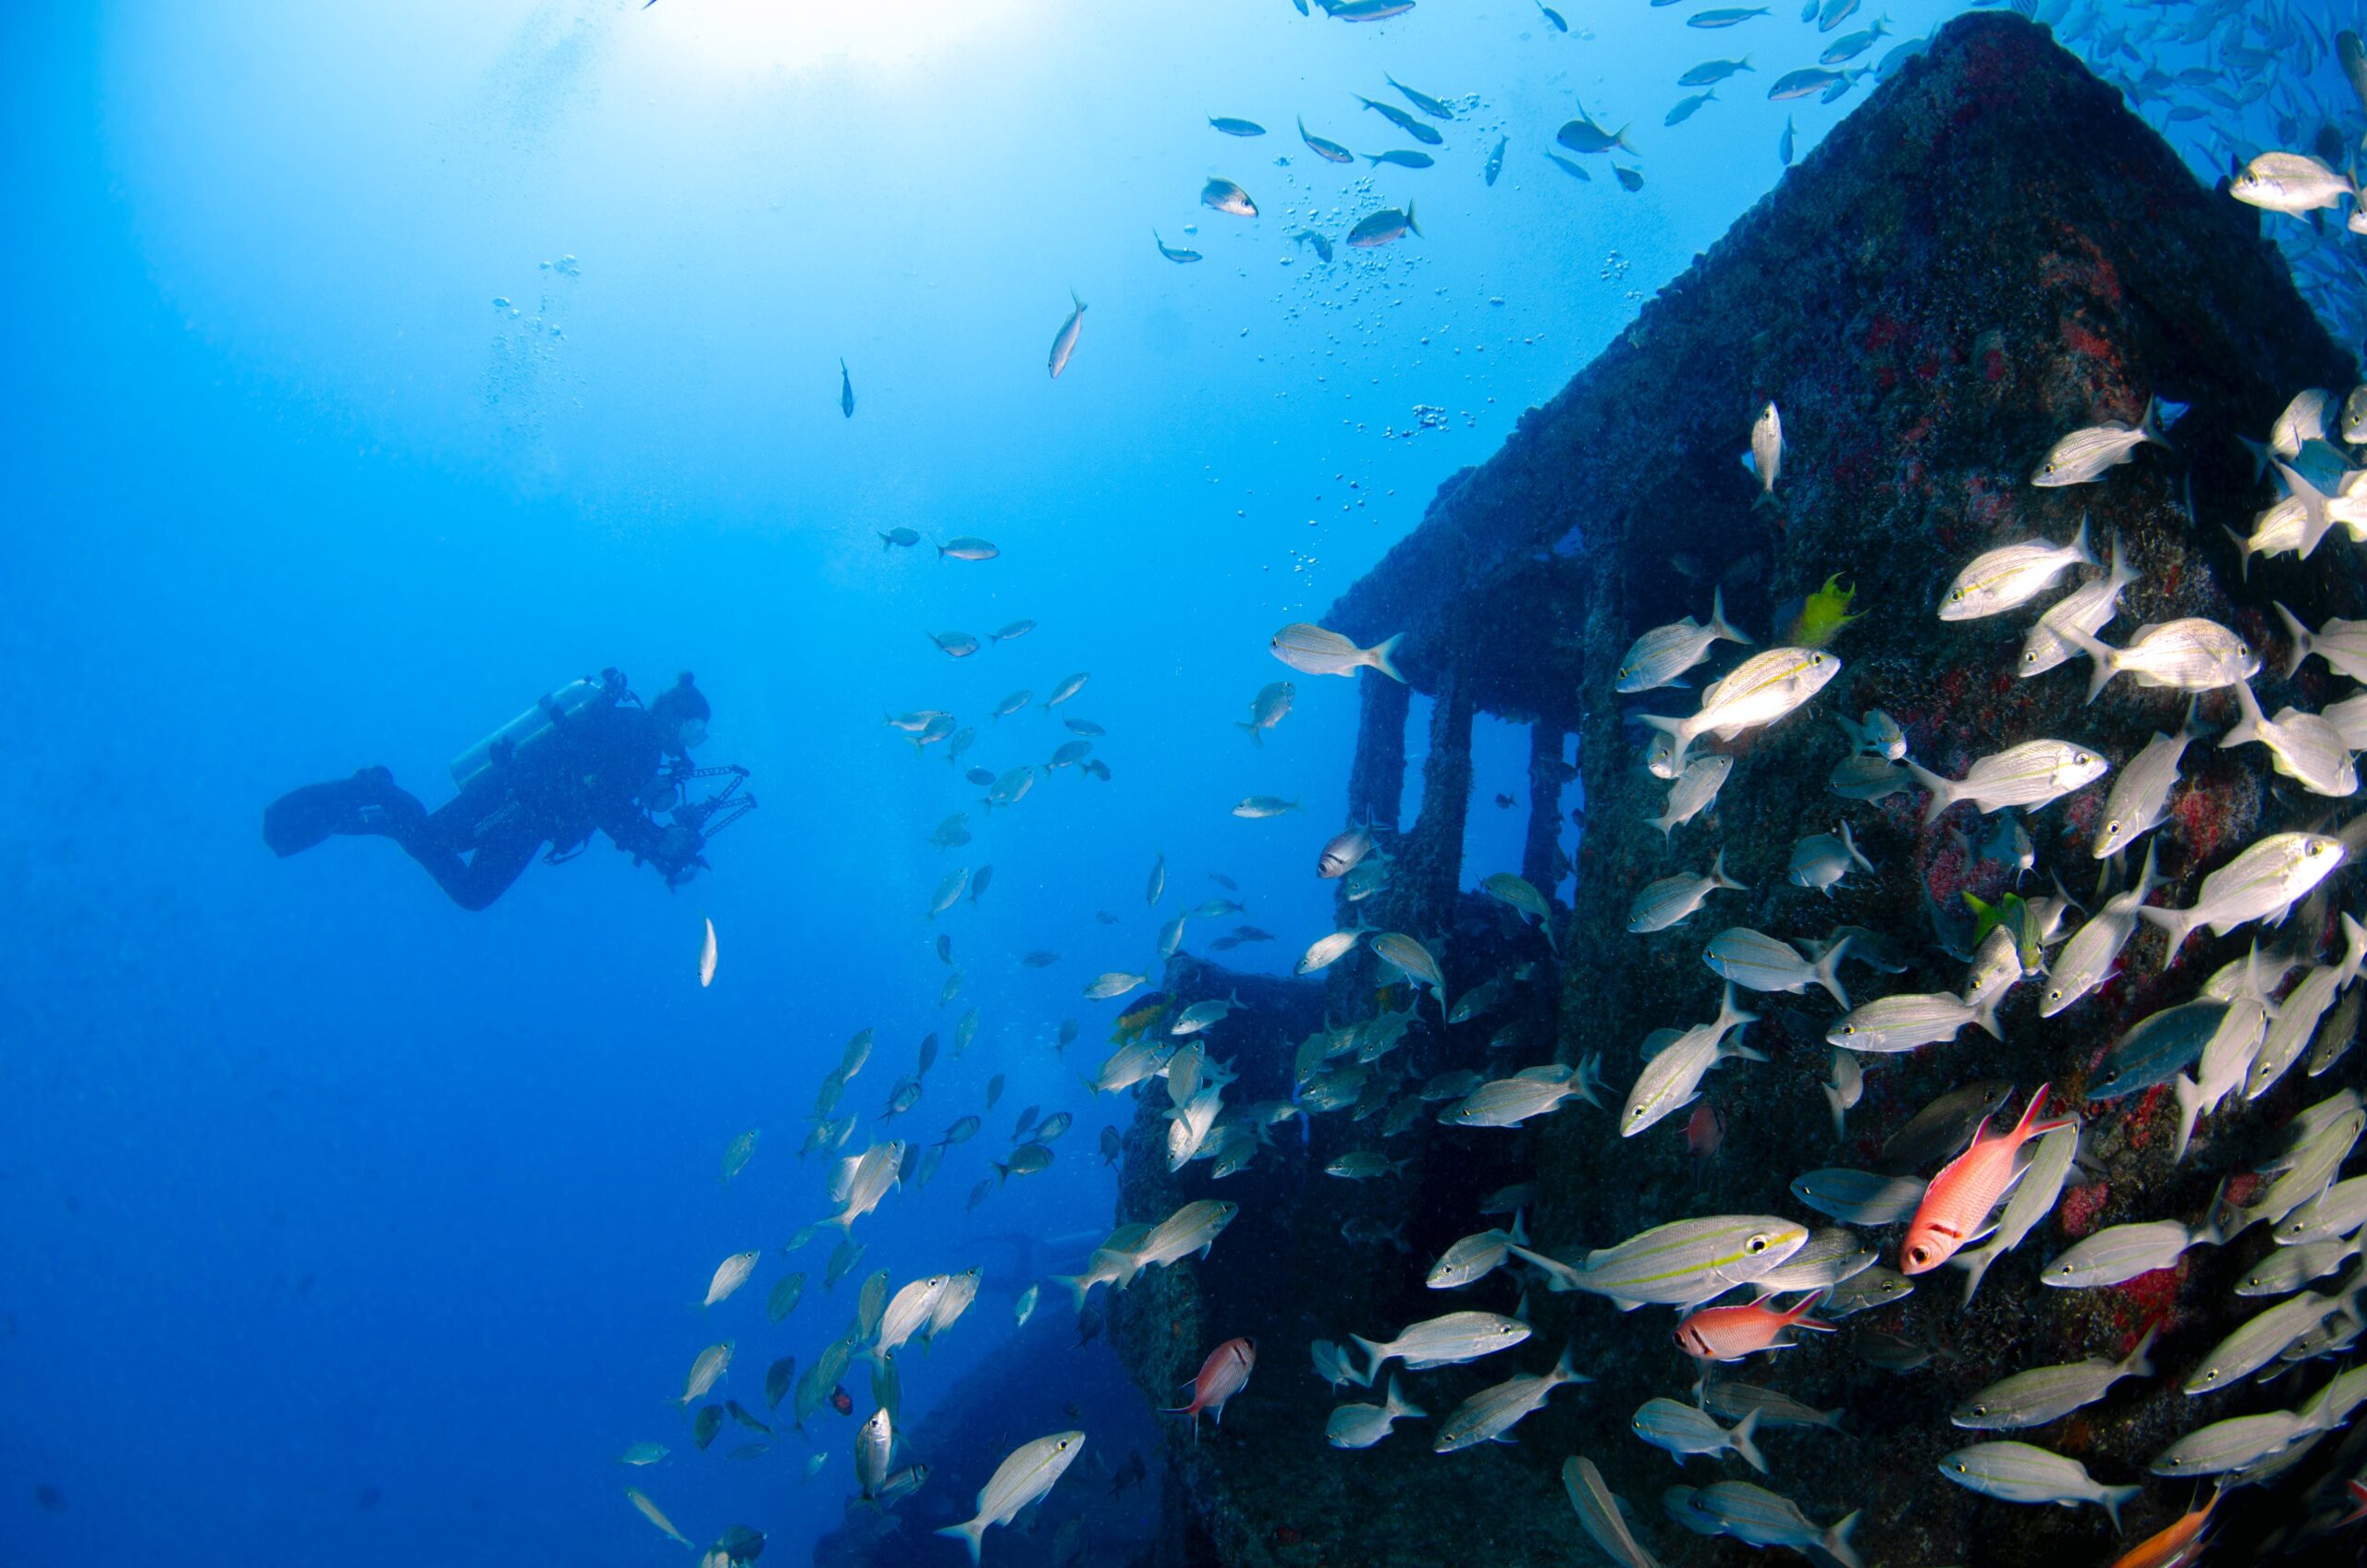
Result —
[{"label": "dark coral-encrusted shipwreck structure behind the schooling silver fish", "polygon": [[[1569,1454],[1600,1466],[1633,1506],[1638,1537],[1666,1563],[1742,1561],[1735,1544],[1690,1535],[1662,1514],[1671,1480],[1721,1476],[1761,1480],[1818,1523],[1860,1514],[1865,1561],[2104,1561],[2116,1547],[2097,1509],[1979,1497],[1939,1476],[1941,1457],[1984,1435],[2029,1438],[2081,1459],[2107,1485],[2147,1483],[2126,1509],[2137,1540],[2192,1499],[2187,1483],[2147,1473],[2171,1440],[2204,1421],[2289,1409],[2315,1390],[2327,1362],[2265,1388],[2201,1400],[2180,1393],[2194,1360],[2260,1305],[2234,1296],[2239,1270],[2268,1248],[2260,1229],[2126,1286],[2038,1286],[2038,1265],[2071,1236],[2128,1220],[2197,1220],[2223,1180],[2242,1194],[2298,1106],[2358,1082],[2360,1054],[2322,1078],[2294,1071],[2270,1094],[2204,1118],[2182,1161],[2163,1092],[2085,1099],[2104,1047],[2149,1011],[2192,997],[2206,973],[2242,955],[2251,931],[2192,940],[2168,969],[2161,936],[2145,931],[2109,985],[2052,1018],[2038,1016],[2038,985],[2014,992],[2002,1042],[1967,1030],[1943,1047],[1868,1059],[1863,1099],[1839,1132],[1823,1092],[1837,1007],[1815,990],[1747,997],[1761,1014],[1749,1042],[1768,1061],[1709,1075],[1704,1094],[1723,1118],[1714,1153],[1688,1149],[1681,1116],[1621,1139],[1605,1111],[1584,1104],[1527,1130],[1444,1127],[1427,1113],[1394,1118],[1392,1106],[1425,1075],[1501,1075],[1600,1052],[1617,1113],[1638,1042],[1716,1011],[1721,983],[1702,947],[1726,926],[1780,938],[1856,926],[1872,933],[1877,952],[1868,957],[1903,971],[1849,966],[1849,988],[1939,992],[1962,985],[1962,957],[1946,947],[1969,933],[1965,893],[1993,902],[2017,879],[2036,893],[2059,876],[2092,905],[2100,862],[2090,843],[2107,786],[2021,820],[2036,860],[2036,874],[2024,876],[2019,853],[1984,855],[1976,843],[1995,820],[1958,808],[1927,822],[1920,789],[1882,801],[1832,793],[1827,777],[1849,753],[1832,715],[1891,713],[1910,756],[1948,777],[2036,737],[2092,746],[2118,765],[2156,730],[2175,730],[2185,694],[2123,677],[2088,703],[2085,661],[2019,680],[2036,606],[1962,623],[1934,613],[1948,580],[1981,550],[2066,542],[2083,521],[2100,559],[2118,547],[2135,568],[2109,637],[2126,642],[2145,623],[2208,616],[2265,651],[2253,682],[2263,708],[2322,708],[2339,696],[2336,682],[2315,663],[2279,677],[2284,635],[2270,606],[2282,602],[2310,625],[2362,616],[2353,545],[2336,538],[2310,561],[2251,559],[2246,571],[2223,528],[2249,531],[2270,500],[2239,438],[2263,436],[2296,391],[2348,388],[2355,374],[2260,239],[2258,213],[2201,187],[2045,28],[1981,14],[1943,28],[1612,348],[1531,410],[1501,452],[1442,486],[1420,528],[1326,621],[1359,642],[1404,632],[1399,668],[1411,689],[1434,699],[1420,737],[1420,815],[1401,824],[1408,689],[1361,677],[1347,817],[1378,824],[1394,867],[1387,891],[1354,914],[1434,938],[1449,971],[1449,997],[1437,1002],[1494,978],[1503,978],[1505,1002],[1449,1026],[1423,997],[1425,1023],[1387,1068],[1375,1104],[1276,1127],[1271,1156],[1217,1194],[1243,1213],[1212,1258],[1117,1298],[1120,1350],[1136,1381],[1160,1395],[1221,1338],[1252,1334],[1262,1345],[1257,1381],[1226,1426],[1200,1433],[1198,1445],[1181,1433],[1169,1442],[1160,1561],[1598,1561],[1557,1480]],[[2152,396],[2185,405],[2168,450],[2147,448],[2102,483],[2029,483],[2057,436],[2100,419],[2135,422]],[[1737,462],[1766,403],[1782,410],[1787,433],[1771,497]],[[1735,758],[1723,793],[1707,815],[1664,834],[1650,820],[1669,786],[1645,772],[1633,715],[1690,713],[1700,694],[1621,696],[1621,651],[1645,628],[1707,616],[1711,590],[1763,647],[1787,642],[1801,604],[1834,576],[1856,585],[1860,616],[1832,632],[1839,677],[1787,722],[1714,746]],[[1513,869],[1460,865],[1470,732],[1482,711],[1534,725],[1520,872],[1548,891],[1562,881],[1555,829],[1565,746],[1576,737],[1586,831],[1550,943],[1465,891],[1484,872]],[[2220,692],[2201,713],[2225,727],[2234,706]],[[2192,902],[2201,874],[2258,834],[2341,822],[2346,808],[2277,779],[2258,746],[2199,741],[2156,831],[2171,879],[2156,902]],[[1830,895],[1787,881],[1794,841],[1842,820],[1877,872],[1858,872]],[[1718,850],[1744,893],[1718,893],[1669,931],[1626,931],[1643,883],[1707,869]],[[2272,943],[2301,962],[2324,957],[2334,910],[2358,902],[2348,883],[2355,874],[2329,883],[2329,898]],[[1224,995],[1233,978],[1181,962],[1167,985],[1193,1000]],[[1330,971],[1321,995],[1311,983],[1243,985],[1257,1033],[1228,1040],[1243,1061],[1233,1094],[1288,1099],[1297,1040],[1326,1016],[1401,1004],[1397,988],[1366,952]],[[1326,1445],[1333,1395],[1309,1379],[1311,1341],[1387,1338],[1458,1307],[1515,1310],[1522,1284],[1503,1272],[1465,1291],[1425,1289],[1425,1270],[1453,1239],[1510,1225],[1513,1208],[1541,1251],[1567,1255],[1688,1215],[1820,1222],[1787,1191],[1792,1177],[1823,1165],[1879,1168],[1891,1132],[1974,1080],[2012,1085],[2010,1111],[2052,1082],[2052,1104],[2081,1116],[2081,1172],[2055,1217],[1991,1270],[1972,1303],[1962,1274],[1943,1270],[1922,1277],[1913,1298],[1837,1334],[1718,1369],[1844,1412],[1853,1440],[1768,1433],[1763,1478],[1702,1459],[1678,1476],[1628,1431],[1643,1400],[1683,1400],[1695,1381],[1697,1364],[1669,1338],[1673,1317],[1619,1315],[1595,1296],[1534,1289],[1529,1345],[1406,1379],[1408,1395],[1442,1416],[1479,1386],[1543,1371],[1572,1345],[1593,1383],[1553,1395],[1517,1428],[1517,1445],[1432,1454],[1434,1421],[1411,1421],[1363,1452]],[[1122,1220],[1155,1220],[1207,1196],[1202,1168],[1167,1175],[1162,1108],[1146,1094]],[[1342,1153],[1375,1149],[1389,1172],[1363,1182],[1323,1175]],[[1865,1236],[1896,1262],[1898,1227]],[[2121,1357],[2147,1329],[2159,1331],[2159,1374],[2121,1383],[2071,1419],[2031,1433],[1967,1433],[1948,1421],[1958,1400],[2010,1371]],[[1337,1397],[1378,1400],[1380,1388]],[[2225,1537],[2260,1542],[2296,1528],[2329,1478],[2358,1466],[2355,1447],[2355,1433],[2334,1433],[2275,1485],[2234,1495],[2220,1509]]]}]

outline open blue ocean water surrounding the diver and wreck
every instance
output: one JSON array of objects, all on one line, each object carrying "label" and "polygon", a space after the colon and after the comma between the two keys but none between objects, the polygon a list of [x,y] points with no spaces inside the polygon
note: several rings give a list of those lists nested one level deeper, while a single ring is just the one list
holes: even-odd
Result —
[{"label": "open blue ocean water surrounding the diver and wreck", "polygon": [[[1569,33],[1529,0],[1378,26],[1290,0],[0,17],[0,1561],[663,1561],[627,1480],[698,1540],[753,1523],[802,1561],[852,1421],[810,1483],[793,1435],[694,1454],[670,1395],[696,1350],[736,1338],[750,1400],[873,1267],[994,1270],[994,1236],[1108,1225],[1094,1144],[1131,1106],[1077,1082],[1117,1011],[1084,981],[1153,966],[1212,872],[1283,933],[1236,966],[1283,971],[1330,921],[1304,867],[1356,692],[1297,675],[1252,748],[1233,725],[1288,675],[1266,637],[1766,194],[1787,121],[1804,154],[1865,90],[1766,102],[1813,59],[1789,14],[1565,9]],[[1943,7],[1889,17],[1913,38]],[[1744,52],[1756,76],[1662,126],[1685,66]],[[1356,104],[1404,104],[1385,73],[1456,109],[1437,166],[1318,161],[1297,116],[1408,144]],[[1638,192],[1546,161],[1576,107],[1636,121]],[[1200,206],[1210,175],[1262,216]],[[1380,251],[1290,237],[1404,201],[1420,234]],[[883,547],[899,526],[1001,557]],[[928,637],[1018,618],[963,661]],[[644,694],[694,670],[701,760],[753,770],[762,808],[691,886],[594,846],[466,914],[381,841],[263,848],[265,801],[362,765],[440,803],[452,753],[601,666]],[[1037,706],[987,720],[1020,687]],[[881,725],[911,708],[975,725],[963,765],[992,770],[1086,715],[1112,777],[987,812],[944,746]],[[1482,720],[1472,876],[1517,862],[1522,812],[1489,801],[1524,805],[1524,760]],[[1304,812],[1228,815],[1250,793]],[[973,843],[930,846],[956,810]],[[928,921],[952,865],[992,893]],[[878,1030],[862,1146],[970,1007],[904,1125],[935,1137],[1001,1073],[987,1132],[864,1220],[824,1293],[828,1239],[781,1258],[826,1213],[795,1153],[814,1085]],[[1027,1104],[1077,1116],[1060,1158],[968,1210]],[[757,1281],[701,1312],[743,1248]],[[769,1329],[791,1267],[807,1303]],[[1006,1348],[1011,1284],[907,1367],[907,1409]],[[677,1454],[618,1469],[641,1438]]]}]

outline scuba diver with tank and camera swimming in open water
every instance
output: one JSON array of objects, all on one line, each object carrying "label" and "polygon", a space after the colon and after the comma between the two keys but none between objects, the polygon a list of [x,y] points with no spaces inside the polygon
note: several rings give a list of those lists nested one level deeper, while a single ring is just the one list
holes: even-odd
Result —
[{"label": "scuba diver with tank and camera swimming in open water", "polygon": [[[708,867],[708,841],[755,810],[755,798],[739,793],[746,767],[691,763],[708,713],[689,675],[644,706],[618,670],[601,670],[542,696],[452,758],[459,793],[433,812],[386,767],[365,767],[272,801],[263,841],[286,857],[336,834],[393,838],[452,902],[483,910],[544,843],[544,860],[561,865],[599,829],[634,865],[658,867],[665,886],[679,888]],[[729,784],[691,801],[691,784],[712,777]]]}]

